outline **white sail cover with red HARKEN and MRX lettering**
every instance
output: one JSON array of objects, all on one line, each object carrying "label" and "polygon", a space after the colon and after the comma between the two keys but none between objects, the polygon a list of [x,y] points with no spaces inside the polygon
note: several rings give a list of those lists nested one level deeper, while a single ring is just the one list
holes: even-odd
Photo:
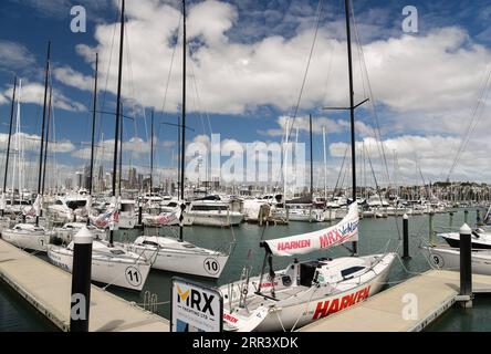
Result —
[{"label": "white sail cover with red HARKEN and MRX lettering", "polygon": [[264,241],[274,256],[289,257],[332,248],[358,240],[358,206],[353,202],[348,214],[335,226],[309,233]]}]

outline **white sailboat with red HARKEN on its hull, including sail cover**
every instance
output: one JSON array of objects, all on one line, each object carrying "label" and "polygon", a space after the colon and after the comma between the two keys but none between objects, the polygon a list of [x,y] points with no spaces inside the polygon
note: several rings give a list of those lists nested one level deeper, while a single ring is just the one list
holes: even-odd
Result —
[{"label": "white sailboat with red HARKEN on its hull, including sail cover", "polygon": [[220,288],[227,331],[292,330],[342,311],[380,291],[395,253],[366,257],[294,260],[281,271],[271,269],[272,256],[295,257],[354,241],[358,208],[327,229],[262,242],[270,271]]}]

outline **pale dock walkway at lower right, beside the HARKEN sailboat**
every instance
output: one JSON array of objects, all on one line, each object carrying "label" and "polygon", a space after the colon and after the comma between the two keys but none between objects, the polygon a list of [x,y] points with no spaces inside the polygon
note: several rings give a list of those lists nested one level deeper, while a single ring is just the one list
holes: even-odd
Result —
[{"label": "pale dock walkway at lower right, beside the HARKEN sailboat", "polygon": [[[299,332],[418,332],[452,306],[458,298],[460,273],[430,270],[387,289],[353,308],[330,315]],[[491,292],[491,277],[472,274],[474,293]],[[417,319],[405,320],[407,294],[416,295]]]}]

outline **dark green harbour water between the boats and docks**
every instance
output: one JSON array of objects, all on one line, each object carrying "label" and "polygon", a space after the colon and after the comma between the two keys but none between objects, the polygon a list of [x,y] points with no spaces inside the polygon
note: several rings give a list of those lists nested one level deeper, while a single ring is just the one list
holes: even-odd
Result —
[{"label": "dark green harbour water between the boats and docks", "polygon": [[[482,212],[482,211],[481,211]],[[482,215],[482,214],[481,214]],[[438,227],[449,227],[449,215],[437,214],[433,217],[435,229]],[[463,210],[455,214],[452,226],[457,230],[463,223]],[[476,221],[476,209],[469,210],[469,223]],[[195,278],[194,280],[210,285],[221,285],[240,278],[244,266],[253,267],[253,273],[260,272],[264,251],[259,247],[262,239],[278,238],[296,233],[309,232],[326,227],[326,223],[291,222],[288,226],[260,227],[244,223],[233,229],[188,227],[185,228],[185,239],[198,246],[212,249],[228,249],[230,242],[236,240],[232,256],[223,270],[221,278],[217,281]],[[386,219],[363,219],[359,227],[359,253],[367,254],[384,252],[385,250],[396,251],[401,239],[401,218],[389,217]],[[176,228],[160,229],[160,235],[176,235]],[[146,235],[155,235],[157,229],[146,229]],[[415,216],[409,218],[410,233],[410,256],[411,260],[399,262],[393,266],[388,284],[391,287],[418,272],[428,270],[430,267],[418,246],[421,239],[428,239],[429,216]],[[118,240],[130,241],[138,235],[138,231],[119,231]],[[300,257],[310,259],[316,257],[339,257],[347,256],[348,251],[338,247],[326,252],[316,252]],[[43,256],[40,256],[46,259]],[[284,268],[291,259],[275,258],[273,267]],[[169,316],[170,281],[175,274],[164,271],[152,271],[144,290],[140,293],[108,287],[107,290],[128,301],[143,304],[145,293],[148,291],[157,295],[158,314]],[[0,331],[53,331],[51,323],[39,315],[17,294],[7,289],[6,284],[0,284]],[[487,320],[491,315],[491,296],[479,295],[474,299],[474,306],[471,310],[451,309],[427,331],[491,331],[491,323]]]}]

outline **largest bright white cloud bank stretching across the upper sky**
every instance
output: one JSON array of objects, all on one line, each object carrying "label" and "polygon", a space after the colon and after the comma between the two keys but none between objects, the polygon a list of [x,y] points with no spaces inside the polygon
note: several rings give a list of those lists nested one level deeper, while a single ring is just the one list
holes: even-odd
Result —
[{"label": "largest bright white cloud bank stretching across the upper sky", "polygon": [[[128,40],[125,43],[132,66],[129,70],[125,55],[124,96],[159,110],[180,14],[166,3],[147,0],[128,3],[127,15]],[[192,59],[189,59],[188,76],[195,75],[200,95],[199,106],[190,104],[189,111],[243,114],[261,105],[289,111],[303,77],[312,30],[303,27],[291,39],[274,35],[253,43],[233,43],[228,38],[228,30],[237,17],[234,6],[216,0],[190,8],[189,40],[192,42],[199,38],[201,45],[192,45]],[[330,23],[318,33],[302,110],[347,103],[346,45],[335,39],[337,34]],[[113,49],[107,86],[113,93],[116,90],[118,45],[117,35],[115,43],[112,39],[117,27],[116,23],[97,25],[97,46],[77,46],[79,53],[90,63],[94,61],[95,51],[100,52],[101,67],[109,64]],[[176,50],[180,53],[181,44]],[[357,61],[356,49],[354,52]],[[485,48],[473,43],[467,32],[458,28],[373,41],[364,45],[364,53],[378,103],[398,114],[421,116],[421,121],[435,117],[431,127],[437,129],[441,126],[438,121],[442,115],[456,110],[462,114],[462,107],[473,104],[487,63],[491,60]],[[355,69],[356,100],[361,101],[366,93],[357,63]],[[178,54],[170,75],[167,111],[176,111],[181,101],[180,70],[181,55]],[[102,72],[105,75],[107,70]],[[63,82],[92,90],[91,80],[72,70],[63,72]],[[194,84],[195,80],[188,80],[190,95]],[[456,116],[453,122],[456,119],[461,119],[461,116]],[[408,121],[398,124],[408,126]],[[453,129],[450,125],[447,123],[442,128]]]}]

